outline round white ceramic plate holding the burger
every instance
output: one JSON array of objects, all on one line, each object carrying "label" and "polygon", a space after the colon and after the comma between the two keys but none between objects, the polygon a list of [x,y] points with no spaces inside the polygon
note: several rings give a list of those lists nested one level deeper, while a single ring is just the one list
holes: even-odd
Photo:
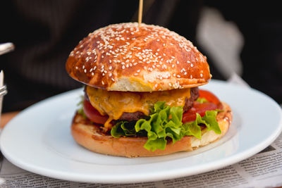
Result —
[{"label": "round white ceramic plate holding the burger", "polygon": [[105,156],[87,151],[71,137],[70,125],[82,89],[41,101],[4,128],[1,151],[32,173],[78,182],[129,183],[195,175],[237,163],[261,151],[281,132],[281,108],[254,89],[212,81],[203,87],[233,109],[228,133],[192,152],[149,158]]}]

